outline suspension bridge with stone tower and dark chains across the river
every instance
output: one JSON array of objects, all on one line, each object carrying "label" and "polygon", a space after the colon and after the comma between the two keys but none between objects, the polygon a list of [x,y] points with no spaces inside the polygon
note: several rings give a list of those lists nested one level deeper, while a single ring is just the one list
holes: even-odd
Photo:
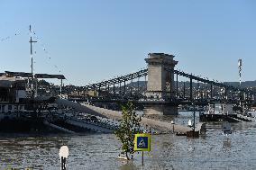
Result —
[{"label": "suspension bridge with stone tower and dark chains across the river", "polygon": [[[178,105],[233,103],[251,105],[255,93],[248,88],[228,85],[175,69],[173,55],[150,53],[147,68],[92,85],[79,86],[70,100],[90,103],[142,103],[145,112],[172,114]],[[179,79],[182,81],[179,81]]]}]

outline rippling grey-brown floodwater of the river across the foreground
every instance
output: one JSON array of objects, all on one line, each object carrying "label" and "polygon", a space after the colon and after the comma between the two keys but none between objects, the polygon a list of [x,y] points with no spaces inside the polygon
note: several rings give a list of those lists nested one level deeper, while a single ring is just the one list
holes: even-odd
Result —
[{"label": "rippling grey-brown floodwater of the river across the foreground", "polygon": [[142,153],[129,163],[116,159],[120,143],[114,134],[1,135],[0,169],[59,170],[59,148],[63,144],[69,146],[70,170],[256,169],[256,122],[233,123],[232,129],[233,134],[228,136],[222,130],[207,130],[199,139],[152,135],[151,152],[144,152],[143,167]]}]

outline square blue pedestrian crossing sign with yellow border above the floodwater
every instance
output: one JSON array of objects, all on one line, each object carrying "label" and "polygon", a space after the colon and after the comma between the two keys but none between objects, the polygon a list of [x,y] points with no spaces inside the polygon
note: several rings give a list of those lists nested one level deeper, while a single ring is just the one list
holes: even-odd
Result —
[{"label": "square blue pedestrian crossing sign with yellow border above the floodwater", "polygon": [[151,134],[135,134],[134,151],[151,151]]}]

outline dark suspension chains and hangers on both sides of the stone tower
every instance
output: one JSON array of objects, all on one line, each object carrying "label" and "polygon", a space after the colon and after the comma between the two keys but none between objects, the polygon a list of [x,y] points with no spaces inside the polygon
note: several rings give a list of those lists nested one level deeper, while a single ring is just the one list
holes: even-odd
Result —
[{"label": "dark suspension chains and hangers on both sides of the stone tower", "polygon": [[[204,85],[210,85],[210,87],[207,87],[207,88],[210,88],[210,89],[208,89],[209,90],[209,92],[207,92],[208,94],[206,92],[203,92],[204,97],[201,97],[201,100],[203,100],[203,99],[204,100],[205,99],[212,99],[213,101],[214,100],[215,101],[225,100],[226,102],[228,102],[228,101],[231,101],[231,99],[229,99],[229,98],[232,98],[232,101],[235,101],[238,98],[240,101],[244,102],[244,101],[251,101],[251,97],[249,99],[248,96],[249,95],[252,96],[252,94],[253,95],[255,94],[254,92],[252,92],[248,89],[245,89],[245,88],[240,88],[240,87],[236,87],[236,86],[233,86],[233,85],[227,85],[227,84],[220,83],[220,82],[217,82],[217,81],[214,81],[214,80],[209,80],[208,78],[202,78],[200,76],[195,76],[195,75],[192,75],[192,74],[188,74],[188,73],[185,73],[183,71],[179,71],[179,70],[175,70],[175,69],[169,69],[169,68],[166,68],[166,70],[169,71],[170,73],[173,73],[173,74],[177,75],[177,80],[176,80],[177,85],[176,85],[175,90],[172,90],[170,92],[166,92],[167,94],[169,94],[169,98],[167,97],[165,100],[177,100],[178,101],[179,98],[180,98],[181,100],[184,100],[184,101],[185,100],[190,100],[190,101],[191,100],[197,100],[197,101],[199,101],[198,98],[200,98],[200,97],[198,97],[198,96],[195,97],[195,94],[199,95],[201,93],[200,89],[199,90],[194,89],[194,91],[193,91],[192,81],[197,81],[197,83],[200,82],[200,83],[203,83]],[[130,80],[133,80],[133,79],[136,79],[136,78],[140,78],[142,76],[147,76],[147,75],[148,75],[148,69],[143,68],[140,71],[132,73],[132,74],[128,74],[128,75],[125,75],[125,76],[119,76],[119,77],[112,78],[112,79],[109,79],[109,80],[106,80],[106,81],[103,81],[103,82],[99,82],[99,83],[96,83],[96,84],[92,84],[92,85],[81,86],[80,88],[84,91],[94,90],[94,91],[98,91],[98,92],[101,91],[101,88],[105,88],[105,91],[108,91],[108,95],[109,95],[108,98],[115,99],[115,100],[126,99],[126,98],[130,99],[131,97],[134,98],[136,95],[132,94],[132,90],[131,90],[131,93],[130,93],[131,94],[130,97],[125,95],[126,94],[126,92],[125,92],[125,89],[126,89],[125,85],[126,84],[125,83],[127,81],[130,81]],[[190,80],[190,85],[188,85],[188,87],[187,87],[187,89],[189,89],[188,92],[187,92],[187,89],[185,89],[185,86],[184,86],[183,92],[178,94],[178,76],[187,77]],[[124,92],[121,89],[121,84],[122,83],[124,84],[123,85],[124,86],[123,87]],[[116,88],[114,86],[116,84],[119,84],[119,92],[116,92],[117,90],[115,91],[115,89],[114,89],[114,88]],[[113,85],[112,89],[109,87],[110,85]],[[221,89],[216,89],[215,87],[224,88],[224,93],[219,93],[218,91],[221,90]],[[138,81],[138,87],[137,88],[139,89],[139,81]],[[110,89],[112,90],[112,94],[110,93]],[[232,94],[228,93],[229,91],[231,91]],[[238,92],[238,94],[237,94],[237,92]],[[140,93],[142,94],[142,92],[140,92]],[[140,95],[140,93],[138,93],[138,97],[143,98],[144,96]],[[188,94],[188,96],[186,94]],[[247,94],[247,99],[242,99],[242,94]],[[100,96],[97,96],[96,100],[98,100],[98,97],[100,97]],[[107,97],[103,98],[103,100],[106,100],[106,99],[107,99]]]}]

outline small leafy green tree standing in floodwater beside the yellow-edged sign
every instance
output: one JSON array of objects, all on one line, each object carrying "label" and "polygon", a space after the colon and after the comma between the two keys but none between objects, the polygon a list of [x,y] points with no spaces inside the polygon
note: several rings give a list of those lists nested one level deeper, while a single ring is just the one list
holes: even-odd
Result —
[{"label": "small leafy green tree standing in floodwater beside the yellow-edged sign", "polygon": [[135,134],[142,133],[142,118],[135,113],[134,105],[131,102],[122,105],[122,118],[118,129],[114,133],[122,143],[122,150],[125,157],[130,160],[131,158],[133,159],[134,154]]}]

